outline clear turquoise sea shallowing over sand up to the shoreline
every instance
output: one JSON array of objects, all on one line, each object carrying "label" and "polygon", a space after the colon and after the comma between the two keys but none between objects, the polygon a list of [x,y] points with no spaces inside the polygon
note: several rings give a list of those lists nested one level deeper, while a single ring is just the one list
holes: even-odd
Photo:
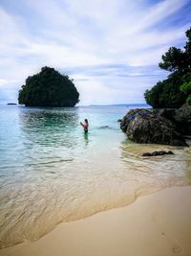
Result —
[{"label": "clear turquoise sea shallowing over sand up to the shoreline", "polygon": [[[61,221],[191,184],[190,149],[131,143],[128,108],[0,106],[0,246],[36,240]],[[88,118],[84,134],[79,122]],[[175,155],[143,158],[141,152]]]}]

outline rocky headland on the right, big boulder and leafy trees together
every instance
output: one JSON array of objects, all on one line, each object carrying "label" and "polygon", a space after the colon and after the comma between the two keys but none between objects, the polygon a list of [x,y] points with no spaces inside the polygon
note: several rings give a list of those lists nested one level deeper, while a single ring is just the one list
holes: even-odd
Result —
[{"label": "rocky headland on the right, big boulder and leafy trees together", "polygon": [[152,109],[132,109],[121,120],[120,128],[137,143],[187,146],[191,135],[191,28],[183,49],[171,47],[162,55],[159,67],[170,72],[144,97]]}]

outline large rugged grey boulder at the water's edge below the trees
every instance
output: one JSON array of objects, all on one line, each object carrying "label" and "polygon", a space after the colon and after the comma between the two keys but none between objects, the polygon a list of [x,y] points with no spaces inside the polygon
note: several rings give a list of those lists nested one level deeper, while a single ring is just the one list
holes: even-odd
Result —
[{"label": "large rugged grey boulder at the water's edge below the trees", "polygon": [[186,146],[176,115],[175,109],[132,109],[123,117],[120,128],[137,143]]}]

